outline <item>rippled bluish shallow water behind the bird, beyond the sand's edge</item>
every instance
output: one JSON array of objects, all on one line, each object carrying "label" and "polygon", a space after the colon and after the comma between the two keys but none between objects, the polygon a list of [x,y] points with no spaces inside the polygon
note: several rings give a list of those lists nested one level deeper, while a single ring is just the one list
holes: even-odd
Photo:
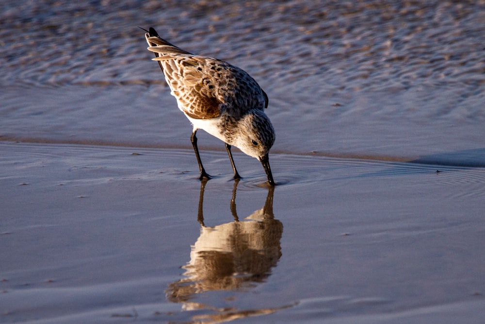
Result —
[{"label": "rippled bluish shallow water behind the bird, beyond the sand's edge", "polygon": [[4,4],[1,138],[188,147],[137,26],[253,75],[274,152],[485,165],[483,0]]}]

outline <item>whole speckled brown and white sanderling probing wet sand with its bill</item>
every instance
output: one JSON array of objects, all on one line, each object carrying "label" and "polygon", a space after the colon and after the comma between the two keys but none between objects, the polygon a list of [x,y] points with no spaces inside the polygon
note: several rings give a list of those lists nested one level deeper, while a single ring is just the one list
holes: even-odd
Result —
[{"label": "whole speckled brown and white sanderling probing wet sand with its bill", "polygon": [[202,166],[195,136],[198,129],[203,129],[226,143],[234,179],[241,176],[232,158],[231,145],[256,157],[269,184],[274,186],[268,153],[275,142],[275,130],[264,113],[268,96],[258,83],[241,68],[184,51],[162,39],[151,27],[145,31],[148,51],[155,53],[153,60],[162,68],[170,94],[194,126],[190,139],[200,179],[210,179]]}]

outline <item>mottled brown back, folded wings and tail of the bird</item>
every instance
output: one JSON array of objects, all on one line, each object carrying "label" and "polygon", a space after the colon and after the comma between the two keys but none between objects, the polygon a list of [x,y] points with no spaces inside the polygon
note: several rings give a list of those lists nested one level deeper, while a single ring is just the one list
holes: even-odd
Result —
[{"label": "mottled brown back, folded wings and tail of the bird", "polygon": [[246,110],[267,107],[268,97],[242,69],[218,59],[192,55],[162,39],[153,28],[146,34],[146,41],[178,107],[187,116],[211,119],[227,111],[237,118]]}]

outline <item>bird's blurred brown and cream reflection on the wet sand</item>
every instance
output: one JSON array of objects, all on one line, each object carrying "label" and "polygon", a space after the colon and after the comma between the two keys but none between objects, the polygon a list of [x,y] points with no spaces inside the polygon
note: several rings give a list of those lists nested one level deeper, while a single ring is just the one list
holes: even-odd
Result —
[{"label": "bird's blurred brown and cream reflection on the wet sand", "polygon": [[190,302],[195,294],[213,290],[244,290],[262,282],[281,257],[283,224],[273,215],[274,187],[264,206],[239,220],[234,182],[230,211],[233,222],[209,227],[204,224],[203,201],[207,181],[201,182],[197,220],[200,236],[192,246],[184,278],[170,284],[167,298],[183,303],[186,310],[207,308]]}]

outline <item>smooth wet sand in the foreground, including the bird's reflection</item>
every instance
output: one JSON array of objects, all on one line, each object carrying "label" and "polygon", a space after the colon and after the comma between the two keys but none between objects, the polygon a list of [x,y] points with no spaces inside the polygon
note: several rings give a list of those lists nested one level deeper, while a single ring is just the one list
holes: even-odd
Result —
[{"label": "smooth wet sand in the foreground, including the bird's reflection", "polygon": [[[0,142],[1,323],[478,323],[485,170]],[[438,171],[438,172],[437,172]]]}]

